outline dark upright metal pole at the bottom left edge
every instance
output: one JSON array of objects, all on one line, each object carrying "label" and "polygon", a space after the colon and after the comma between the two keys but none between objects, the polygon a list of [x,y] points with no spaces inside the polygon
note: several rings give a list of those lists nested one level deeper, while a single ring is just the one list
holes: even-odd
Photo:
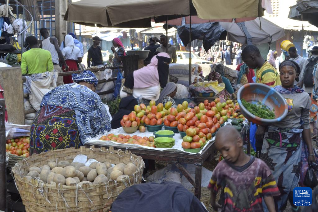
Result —
[{"label": "dark upright metal pole at the bottom left edge", "polygon": [[7,176],[6,176],[6,148],[5,148],[5,99],[0,99],[0,210],[7,208]]}]

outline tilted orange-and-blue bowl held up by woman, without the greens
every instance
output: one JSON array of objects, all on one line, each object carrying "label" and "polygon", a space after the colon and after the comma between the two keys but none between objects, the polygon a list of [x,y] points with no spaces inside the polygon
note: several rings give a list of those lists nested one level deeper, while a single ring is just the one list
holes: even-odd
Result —
[{"label": "tilted orange-and-blue bowl held up by woman, without the greens", "polygon": [[[275,119],[262,119],[253,115],[246,110],[241,102],[241,99],[245,99],[245,101],[252,104],[261,102],[270,110],[274,109]],[[261,83],[249,83],[242,86],[238,91],[237,100],[241,113],[247,120],[255,124],[263,126],[271,125],[275,122],[283,120],[288,113],[288,105],[285,98],[274,88]]]}]

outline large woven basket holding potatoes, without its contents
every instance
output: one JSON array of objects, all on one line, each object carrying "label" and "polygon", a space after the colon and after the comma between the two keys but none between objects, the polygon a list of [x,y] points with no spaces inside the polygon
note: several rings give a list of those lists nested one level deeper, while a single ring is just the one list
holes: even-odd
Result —
[{"label": "large woven basket holding potatoes, without its contents", "polygon": [[[99,162],[109,161],[112,164],[134,163],[137,171],[125,181],[110,181],[103,184],[84,184],[82,187],[61,186],[41,183],[38,179],[26,181],[27,169],[31,166],[41,167],[49,161],[69,161],[78,154],[87,155],[89,159]],[[141,183],[144,162],[141,157],[130,151],[115,151],[113,147],[67,148],[32,155],[18,162],[11,168],[17,188],[27,212],[66,212],[66,211],[98,211],[110,209],[116,197],[128,186]]]}]

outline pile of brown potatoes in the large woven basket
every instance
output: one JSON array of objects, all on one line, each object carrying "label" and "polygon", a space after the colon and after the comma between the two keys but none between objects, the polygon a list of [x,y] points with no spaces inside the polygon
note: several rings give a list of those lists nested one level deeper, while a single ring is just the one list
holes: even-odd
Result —
[{"label": "pile of brown potatoes in the large woven basket", "polygon": [[109,162],[93,162],[88,167],[79,162],[60,161],[57,164],[48,162],[41,168],[28,168],[26,178],[27,181],[31,181],[32,178],[39,178],[43,183],[73,186],[75,184],[83,185],[84,183],[106,183],[113,180],[121,182],[136,171],[137,166],[132,163],[127,165],[119,163],[112,167]]}]

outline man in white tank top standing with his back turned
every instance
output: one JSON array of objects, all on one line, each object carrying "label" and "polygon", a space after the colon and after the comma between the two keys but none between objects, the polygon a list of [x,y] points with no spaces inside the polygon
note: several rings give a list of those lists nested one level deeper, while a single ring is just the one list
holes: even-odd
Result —
[{"label": "man in white tank top standing with his back turned", "polygon": [[[63,72],[61,70],[61,67],[59,66],[59,61],[62,61],[62,63],[65,66],[66,71],[68,71],[68,66],[66,65],[62,51],[59,48],[58,39],[51,38],[49,31],[46,28],[41,28],[40,33],[41,33],[41,36],[44,38],[44,40],[42,40],[42,44],[40,45],[40,48],[51,52],[54,69],[57,70],[59,73]],[[64,84],[63,83],[63,76],[58,77],[58,79],[56,81],[56,85],[60,86],[63,84]]]}]

